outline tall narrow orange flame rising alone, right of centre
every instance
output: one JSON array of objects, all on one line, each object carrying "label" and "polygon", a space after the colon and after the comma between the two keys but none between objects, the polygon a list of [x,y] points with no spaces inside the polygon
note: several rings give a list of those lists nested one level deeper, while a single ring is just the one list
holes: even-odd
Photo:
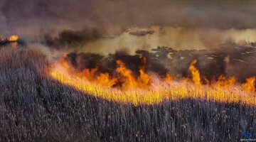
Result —
[{"label": "tall narrow orange flame rising alone, right of centre", "polygon": [[200,86],[201,85],[201,77],[200,77],[199,70],[197,70],[197,68],[195,67],[196,62],[197,62],[196,59],[191,62],[191,65],[189,66],[189,70],[191,72],[193,82],[197,86]]}]

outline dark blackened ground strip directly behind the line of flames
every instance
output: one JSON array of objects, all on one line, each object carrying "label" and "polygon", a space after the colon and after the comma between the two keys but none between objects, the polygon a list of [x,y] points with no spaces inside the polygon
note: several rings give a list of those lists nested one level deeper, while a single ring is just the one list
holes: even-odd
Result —
[{"label": "dark blackened ground strip directly behind the line of flames", "polygon": [[253,46],[223,45],[218,50],[174,50],[158,47],[151,51],[137,50],[135,55],[117,52],[107,57],[95,53],[70,53],[67,60],[80,71],[99,67],[99,72],[110,74],[117,68],[116,61],[122,60],[138,75],[142,56],[146,58],[146,72],[155,72],[159,76],[169,72],[176,78],[189,77],[188,66],[193,59],[198,60],[196,67],[200,70],[201,77],[208,80],[218,80],[220,75],[225,75],[235,76],[239,82],[243,82],[246,77],[256,75],[256,48]]}]

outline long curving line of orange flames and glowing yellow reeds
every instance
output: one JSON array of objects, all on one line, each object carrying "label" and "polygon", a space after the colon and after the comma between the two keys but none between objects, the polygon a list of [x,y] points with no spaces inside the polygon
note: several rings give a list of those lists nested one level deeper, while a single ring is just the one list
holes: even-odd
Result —
[{"label": "long curving line of orange flames and glowing yellow reeds", "polygon": [[[169,73],[166,73],[164,78],[146,74],[146,60],[143,57],[141,60],[142,65],[137,77],[121,60],[117,60],[116,76],[107,72],[97,72],[97,67],[82,72],[71,71],[73,67],[66,64],[68,62],[63,62],[65,60],[53,65],[48,75],[88,95],[119,103],[158,104],[164,100],[192,98],[256,105],[255,77],[247,79],[242,85],[235,83],[233,77],[224,76],[220,76],[217,81],[208,81],[208,84],[196,84],[198,80],[201,82],[201,78],[199,70],[194,66],[196,62],[193,61],[193,67],[189,67],[188,70],[191,71],[191,78],[195,83],[175,81]],[[195,79],[195,76],[199,79]]]}]

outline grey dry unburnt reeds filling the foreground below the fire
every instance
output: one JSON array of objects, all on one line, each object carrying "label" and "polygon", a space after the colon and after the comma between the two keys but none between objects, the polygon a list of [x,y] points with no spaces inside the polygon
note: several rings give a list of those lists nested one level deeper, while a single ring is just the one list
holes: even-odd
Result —
[{"label": "grey dry unburnt reeds filling the foreground below the fire", "polygon": [[108,102],[46,76],[48,65],[38,50],[0,49],[1,141],[240,141],[243,131],[254,138],[253,106]]}]

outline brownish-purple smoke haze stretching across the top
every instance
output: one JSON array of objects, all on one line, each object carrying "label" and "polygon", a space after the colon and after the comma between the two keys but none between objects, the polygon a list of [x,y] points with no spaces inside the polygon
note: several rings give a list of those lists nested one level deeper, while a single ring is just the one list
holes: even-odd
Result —
[{"label": "brownish-purple smoke haze stretching across the top", "polygon": [[253,0],[2,0],[0,6],[1,31],[32,37],[65,28],[102,26],[109,33],[134,26],[256,27]]}]

